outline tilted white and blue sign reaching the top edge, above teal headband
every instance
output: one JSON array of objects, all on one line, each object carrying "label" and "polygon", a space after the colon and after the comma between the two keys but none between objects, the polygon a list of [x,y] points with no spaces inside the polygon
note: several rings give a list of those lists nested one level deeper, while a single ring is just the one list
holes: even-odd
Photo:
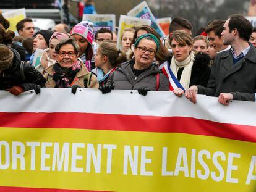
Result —
[{"label": "tilted white and blue sign reaching the top edge, above teal headband", "polygon": [[148,7],[148,4],[146,1],[141,2],[139,5],[134,7],[132,10],[130,10],[127,15],[131,17],[138,17],[142,19],[150,19],[151,20],[151,27],[153,27],[156,32],[163,38],[164,31],[161,29],[161,27],[156,23],[156,19],[154,15],[152,14],[150,8]]}]

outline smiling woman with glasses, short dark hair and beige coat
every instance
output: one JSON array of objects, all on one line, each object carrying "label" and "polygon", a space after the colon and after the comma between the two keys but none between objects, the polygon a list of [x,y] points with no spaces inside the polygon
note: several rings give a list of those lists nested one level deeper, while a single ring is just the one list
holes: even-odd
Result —
[{"label": "smiling woman with glasses, short dark hair and beige coat", "polygon": [[62,40],[55,51],[56,63],[45,69],[46,88],[72,88],[74,94],[78,87],[98,88],[96,76],[79,59],[79,47],[73,38]]}]

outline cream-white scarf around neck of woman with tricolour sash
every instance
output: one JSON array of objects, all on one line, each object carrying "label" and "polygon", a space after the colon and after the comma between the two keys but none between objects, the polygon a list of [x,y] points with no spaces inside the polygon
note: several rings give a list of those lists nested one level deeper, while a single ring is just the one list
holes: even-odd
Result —
[{"label": "cream-white scarf around neck of woman with tricolour sash", "polygon": [[184,61],[177,61],[174,56],[171,59],[171,70],[175,77],[177,78],[177,72],[179,68],[183,68],[181,79],[179,80],[179,83],[183,86],[185,90],[189,88],[190,84],[190,78],[191,78],[191,72],[193,67],[193,61],[194,61],[194,53],[191,51],[189,56]]}]

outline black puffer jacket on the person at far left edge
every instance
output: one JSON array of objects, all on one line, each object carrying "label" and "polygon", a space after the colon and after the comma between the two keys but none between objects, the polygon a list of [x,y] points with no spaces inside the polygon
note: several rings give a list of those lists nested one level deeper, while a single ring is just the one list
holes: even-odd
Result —
[{"label": "black puffer jacket on the person at far left edge", "polygon": [[0,90],[6,90],[12,86],[21,86],[24,91],[32,90],[35,85],[45,86],[45,78],[35,67],[25,63],[23,65],[23,73],[25,80],[22,78],[22,70],[20,69],[20,55],[15,49],[13,64],[9,69],[0,73]]}]

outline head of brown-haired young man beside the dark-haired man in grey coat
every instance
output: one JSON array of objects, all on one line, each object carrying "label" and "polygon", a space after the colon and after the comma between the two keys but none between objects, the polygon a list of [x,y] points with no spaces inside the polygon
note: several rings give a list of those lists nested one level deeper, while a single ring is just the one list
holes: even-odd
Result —
[{"label": "head of brown-haired young man beside the dark-haired man in grey coat", "polygon": [[215,48],[217,53],[231,48],[231,46],[223,44],[223,36],[221,36],[221,32],[223,31],[224,23],[225,20],[213,20],[208,24],[207,28],[205,28],[208,40],[210,41],[210,44],[213,44],[213,48]]}]

